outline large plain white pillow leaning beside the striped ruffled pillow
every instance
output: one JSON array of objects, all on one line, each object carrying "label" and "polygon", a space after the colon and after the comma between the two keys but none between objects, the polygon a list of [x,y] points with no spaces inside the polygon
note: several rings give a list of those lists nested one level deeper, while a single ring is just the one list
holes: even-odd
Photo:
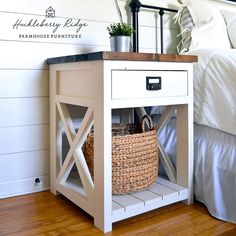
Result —
[{"label": "large plain white pillow leaning beside the striped ruffled pillow", "polygon": [[[182,0],[192,17],[189,50],[202,48],[231,48],[227,28],[220,10],[204,0]],[[182,6],[182,7],[183,7]]]}]

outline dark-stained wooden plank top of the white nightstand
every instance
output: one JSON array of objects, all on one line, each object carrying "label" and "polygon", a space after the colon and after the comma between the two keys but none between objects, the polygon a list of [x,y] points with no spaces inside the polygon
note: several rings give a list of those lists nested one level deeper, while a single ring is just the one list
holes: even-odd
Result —
[{"label": "dark-stained wooden plank top of the white nightstand", "polygon": [[178,55],[178,54],[101,51],[101,52],[93,52],[86,54],[76,54],[76,55],[48,58],[47,63],[59,64],[59,63],[94,61],[94,60],[197,62],[197,56]]}]

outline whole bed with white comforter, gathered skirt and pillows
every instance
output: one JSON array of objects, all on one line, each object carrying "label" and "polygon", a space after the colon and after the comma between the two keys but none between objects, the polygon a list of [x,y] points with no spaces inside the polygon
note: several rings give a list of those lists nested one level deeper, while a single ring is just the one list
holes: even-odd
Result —
[{"label": "whole bed with white comforter, gathered skirt and pillows", "polygon": [[[194,65],[195,199],[212,216],[236,223],[236,14],[203,0],[182,0],[181,4],[175,17],[181,29],[178,52],[198,55]],[[161,110],[151,109],[154,120]],[[159,139],[175,164],[175,118]]]}]

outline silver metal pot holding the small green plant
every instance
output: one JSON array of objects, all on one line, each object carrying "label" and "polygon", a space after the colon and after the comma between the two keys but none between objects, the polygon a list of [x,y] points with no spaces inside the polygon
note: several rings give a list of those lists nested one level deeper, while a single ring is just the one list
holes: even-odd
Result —
[{"label": "silver metal pot holding the small green plant", "polygon": [[111,51],[129,52],[130,51],[130,36],[111,36],[110,37]]}]

